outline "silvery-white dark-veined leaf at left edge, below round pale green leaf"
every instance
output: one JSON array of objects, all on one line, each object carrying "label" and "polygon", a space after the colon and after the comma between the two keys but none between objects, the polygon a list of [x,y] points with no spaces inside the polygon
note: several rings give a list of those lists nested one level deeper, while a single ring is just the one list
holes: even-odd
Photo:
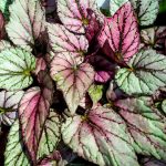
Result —
[{"label": "silvery-white dark-veined leaf at left edge, below round pale green leaf", "polygon": [[23,91],[0,92],[0,122],[6,125],[12,125],[17,117],[18,104],[23,93]]}]

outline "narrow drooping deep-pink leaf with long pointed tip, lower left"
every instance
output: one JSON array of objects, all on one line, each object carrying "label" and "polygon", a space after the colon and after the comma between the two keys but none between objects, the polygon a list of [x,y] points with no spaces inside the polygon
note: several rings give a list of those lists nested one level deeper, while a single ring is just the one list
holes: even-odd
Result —
[{"label": "narrow drooping deep-pink leaf with long pointed tip, lower left", "polygon": [[31,87],[25,92],[20,102],[19,118],[23,142],[34,164],[51,101],[52,92],[49,89]]}]

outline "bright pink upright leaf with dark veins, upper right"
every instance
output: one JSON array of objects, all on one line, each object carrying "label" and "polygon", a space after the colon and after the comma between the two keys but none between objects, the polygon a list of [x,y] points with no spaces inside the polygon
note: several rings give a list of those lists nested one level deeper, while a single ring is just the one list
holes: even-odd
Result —
[{"label": "bright pink upright leaf with dark veins, upper right", "polygon": [[138,25],[129,2],[122,6],[111,19],[105,19],[98,43],[117,62],[127,62],[138,51]]}]

